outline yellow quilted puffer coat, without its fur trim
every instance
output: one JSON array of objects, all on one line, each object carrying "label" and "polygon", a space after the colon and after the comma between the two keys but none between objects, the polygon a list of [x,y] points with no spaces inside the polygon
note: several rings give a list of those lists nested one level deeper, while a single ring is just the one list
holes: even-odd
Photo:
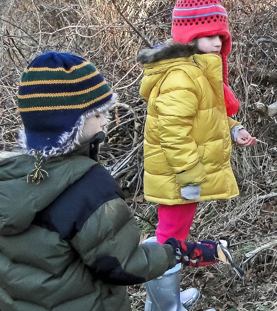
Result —
[{"label": "yellow quilted puffer coat, without its fur trim", "polygon": [[201,184],[200,200],[238,195],[233,175],[221,58],[195,54],[144,64],[140,95],[148,101],[144,196],[173,205],[193,202],[181,187]]}]

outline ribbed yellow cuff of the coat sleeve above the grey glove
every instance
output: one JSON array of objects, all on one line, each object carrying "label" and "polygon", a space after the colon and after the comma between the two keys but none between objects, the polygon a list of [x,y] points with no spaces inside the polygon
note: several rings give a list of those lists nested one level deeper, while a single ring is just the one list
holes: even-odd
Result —
[{"label": "ribbed yellow cuff of the coat sleeve above the grey glove", "polygon": [[200,162],[198,162],[192,169],[176,174],[177,182],[183,187],[189,183],[193,185],[202,183],[206,177],[207,174],[205,173],[204,166]]}]

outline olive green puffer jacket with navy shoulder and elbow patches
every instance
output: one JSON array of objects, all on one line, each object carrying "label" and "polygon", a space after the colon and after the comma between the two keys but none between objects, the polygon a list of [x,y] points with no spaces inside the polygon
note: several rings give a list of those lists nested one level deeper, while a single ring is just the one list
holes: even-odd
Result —
[{"label": "olive green puffer jacket with navy shoulder and elbow patches", "polygon": [[131,310],[125,285],[176,264],[140,231],[109,172],[87,151],[49,158],[27,183],[28,155],[0,160],[1,311]]}]

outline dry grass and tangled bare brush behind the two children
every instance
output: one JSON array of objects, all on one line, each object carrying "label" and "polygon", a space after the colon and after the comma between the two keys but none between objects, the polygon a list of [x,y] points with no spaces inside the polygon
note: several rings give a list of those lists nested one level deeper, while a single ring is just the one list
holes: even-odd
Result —
[{"label": "dry grass and tangled bare brush behind the two children", "polygon": [[[0,4],[0,150],[16,146],[21,127],[16,92],[27,63],[46,50],[90,59],[119,94],[101,162],[124,188],[145,236],[154,234],[157,218],[155,205],[142,196],[146,103],[138,94],[143,70],[135,55],[143,41],[127,21],[152,43],[162,42],[170,36],[173,5],[169,0],[8,0]],[[241,196],[228,202],[201,203],[189,239],[228,235],[246,276],[238,280],[223,264],[187,268],[182,272],[182,288],[194,285],[202,290],[201,302],[193,311],[208,306],[218,311],[273,311],[277,310],[276,249],[243,262],[246,252],[277,237],[277,199],[260,198],[277,192],[277,123],[276,118],[253,111],[258,101],[265,105],[277,101],[277,6],[265,0],[231,0],[225,5],[233,37],[229,81],[241,102],[237,119],[259,143],[251,149],[234,148],[232,165]],[[143,310],[143,285],[128,290],[133,310]]]}]

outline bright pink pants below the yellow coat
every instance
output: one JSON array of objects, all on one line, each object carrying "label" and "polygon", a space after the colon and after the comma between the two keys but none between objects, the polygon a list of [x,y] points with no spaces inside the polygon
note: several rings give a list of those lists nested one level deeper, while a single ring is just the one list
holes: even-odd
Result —
[{"label": "bright pink pants below the yellow coat", "polygon": [[159,223],[156,230],[157,242],[164,243],[169,238],[185,240],[190,231],[197,202],[158,206]]}]

